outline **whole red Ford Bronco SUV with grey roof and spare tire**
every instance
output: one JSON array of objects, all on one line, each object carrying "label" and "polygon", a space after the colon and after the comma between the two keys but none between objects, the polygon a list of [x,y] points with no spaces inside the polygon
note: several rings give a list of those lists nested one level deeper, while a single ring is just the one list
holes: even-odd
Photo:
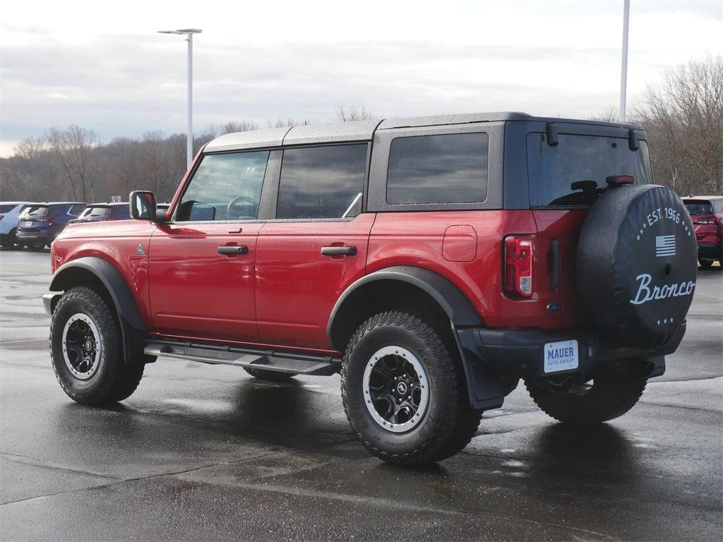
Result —
[{"label": "whole red Ford Bronco SUV with grey roof and spare tire", "polygon": [[341,373],[382,460],[462,449],[523,379],[601,423],[679,345],[683,202],[640,126],[523,113],[294,126],[205,145],[168,210],[69,225],[44,296],[63,390],[124,400],[158,356],[283,381]]}]

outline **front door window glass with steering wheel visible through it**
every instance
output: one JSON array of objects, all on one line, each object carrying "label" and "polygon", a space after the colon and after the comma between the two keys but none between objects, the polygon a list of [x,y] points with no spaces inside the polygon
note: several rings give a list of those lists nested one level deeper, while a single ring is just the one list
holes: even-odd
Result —
[{"label": "front door window glass with steering wheel visible through it", "polygon": [[206,155],[181,197],[176,220],[254,220],[259,215],[266,150]]}]

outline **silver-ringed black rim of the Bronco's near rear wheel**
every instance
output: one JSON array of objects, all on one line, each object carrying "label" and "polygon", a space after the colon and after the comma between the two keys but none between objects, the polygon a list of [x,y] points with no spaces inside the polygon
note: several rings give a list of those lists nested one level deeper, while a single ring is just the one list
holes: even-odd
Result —
[{"label": "silver-ringed black rim of the Bronco's near rear wheel", "polygon": [[386,346],[364,368],[364,404],[384,429],[413,429],[429,407],[429,380],[419,359],[406,348]]}]

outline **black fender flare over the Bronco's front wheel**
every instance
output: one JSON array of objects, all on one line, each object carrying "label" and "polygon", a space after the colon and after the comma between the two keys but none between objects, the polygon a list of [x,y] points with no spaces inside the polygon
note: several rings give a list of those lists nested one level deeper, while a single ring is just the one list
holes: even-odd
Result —
[{"label": "black fender flare over the Bronco's front wheel", "polygon": [[[108,291],[108,296],[113,301],[121,325],[123,353],[126,363],[134,364],[150,361],[145,359],[143,354],[143,340],[147,335],[147,331],[140,317],[133,293],[121,272],[106,259],[87,256],[61,265],[56,270],[53,280],[51,280],[50,291],[61,292],[77,285],[77,281],[73,279],[74,272],[77,272],[77,270],[92,273]],[[53,303],[53,308],[54,305]]]}]

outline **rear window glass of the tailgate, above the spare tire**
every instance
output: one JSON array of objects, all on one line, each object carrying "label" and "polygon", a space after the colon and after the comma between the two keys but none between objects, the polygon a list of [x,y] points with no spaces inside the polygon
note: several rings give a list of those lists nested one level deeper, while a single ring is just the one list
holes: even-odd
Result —
[{"label": "rear window glass of the tailgate, above the spare tire", "polygon": [[527,136],[527,168],[532,207],[588,206],[606,188],[609,176],[632,175],[635,184],[653,180],[648,145],[630,150],[628,139],[560,134],[550,147],[543,134]]}]

